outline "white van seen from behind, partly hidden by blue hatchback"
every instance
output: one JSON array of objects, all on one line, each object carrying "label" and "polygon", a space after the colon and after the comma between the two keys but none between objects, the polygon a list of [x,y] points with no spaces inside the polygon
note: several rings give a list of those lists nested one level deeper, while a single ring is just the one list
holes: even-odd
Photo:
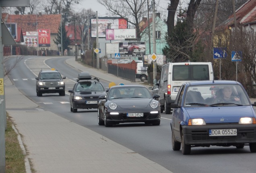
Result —
[{"label": "white van seen from behind, partly hidden by blue hatchback", "polygon": [[174,103],[180,86],[184,82],[213,79],[211,62],[170,62],[163,65],[158,84],[161,113],[163,111],[165,114],[171,113],[170,104]]}]

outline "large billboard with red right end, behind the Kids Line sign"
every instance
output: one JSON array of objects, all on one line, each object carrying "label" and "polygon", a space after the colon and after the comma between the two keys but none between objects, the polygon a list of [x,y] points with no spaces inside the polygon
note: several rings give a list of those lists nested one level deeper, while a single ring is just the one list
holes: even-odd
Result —
[{"label": "large billboard with red right end, behind the Kids Line sign", "polygon": [[[91,18],[91,37],[97,37],[97,20]],[[126,29],[127,20],[124,18],[98,18],[98,37],[106,37],[106,29]]]}]

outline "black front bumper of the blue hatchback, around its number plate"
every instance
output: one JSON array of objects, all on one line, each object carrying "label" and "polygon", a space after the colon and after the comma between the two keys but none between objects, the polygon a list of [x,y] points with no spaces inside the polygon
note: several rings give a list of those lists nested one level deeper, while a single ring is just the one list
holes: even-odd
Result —
[{"label": "black front bumper of the blue hatchback, around its number plate", "polygon": [[[237,136],[209,136],[210,129],[237,129]],[[256,125],[182,126],[188,145],[256,143]]]}]

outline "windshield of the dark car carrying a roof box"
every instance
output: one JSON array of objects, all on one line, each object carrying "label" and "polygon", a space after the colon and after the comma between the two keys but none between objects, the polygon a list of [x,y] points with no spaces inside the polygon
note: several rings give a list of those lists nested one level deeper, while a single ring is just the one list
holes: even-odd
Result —
[{"label": "windshield of the dark car carrying a roof box", "polygon": [[76,91],[104,91],[103,86],[99,82],[79,82]]}]

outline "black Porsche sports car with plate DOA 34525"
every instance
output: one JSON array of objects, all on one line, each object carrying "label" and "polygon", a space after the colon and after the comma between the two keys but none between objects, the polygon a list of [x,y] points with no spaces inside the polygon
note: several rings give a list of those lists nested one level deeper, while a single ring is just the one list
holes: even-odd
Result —
[{"label": "black Porsche sports car with plate DOA 34525", "polygon": [[149,90],[142,85],[119,85],[111,87],[107,96],[100,96],[98,124],[109,127],[119,123],[160,125],[160,107]]}]

